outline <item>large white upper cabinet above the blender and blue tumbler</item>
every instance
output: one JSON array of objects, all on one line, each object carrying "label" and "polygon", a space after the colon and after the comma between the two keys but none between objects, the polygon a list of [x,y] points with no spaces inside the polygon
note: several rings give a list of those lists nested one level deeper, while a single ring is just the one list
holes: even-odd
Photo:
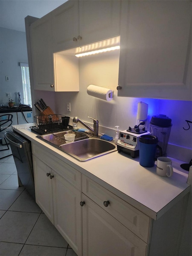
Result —
[{"label": "large white upper cabinet above the blender and blue tumbler", "polygon": [[191,1],[122,1],[118,96],[191,100]]}]

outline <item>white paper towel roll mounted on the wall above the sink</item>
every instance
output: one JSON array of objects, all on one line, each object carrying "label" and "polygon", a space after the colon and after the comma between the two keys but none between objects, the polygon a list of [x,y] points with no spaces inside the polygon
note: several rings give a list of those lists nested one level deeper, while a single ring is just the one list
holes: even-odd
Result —
[{"label": "white paper towel roll mounted on the wall above the sink", "polygon": [[87,87],[87,94],[94,96],[96,98],[105,100],[105,101],[111,101],[113,100],[113,90],[110,90],[108,88],[104,88],[104,87],[100,87],[100,86],[96,86],[93,84],[90,84]]}]

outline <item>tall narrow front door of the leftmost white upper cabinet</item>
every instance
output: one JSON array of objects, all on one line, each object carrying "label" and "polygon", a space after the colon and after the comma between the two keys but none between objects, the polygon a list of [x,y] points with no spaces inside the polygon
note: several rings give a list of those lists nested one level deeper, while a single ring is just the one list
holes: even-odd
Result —
[{"label": "tall narrow front door of the leftmost white upper cabinet", "polygon": [[51,13],[30,26],[35,90],[54,91]]}]

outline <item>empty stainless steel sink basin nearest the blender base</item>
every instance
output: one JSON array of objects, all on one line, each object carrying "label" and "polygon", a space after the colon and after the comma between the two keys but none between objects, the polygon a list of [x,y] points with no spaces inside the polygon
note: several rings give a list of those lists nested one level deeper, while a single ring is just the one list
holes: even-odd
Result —
[{"label": "empty stainless steel sink basin nearest the blender base", "polygon": [[116,151],[116,145],[101,139],[89,138],[60,146],[63,152],[79,161],[87,161]]}]

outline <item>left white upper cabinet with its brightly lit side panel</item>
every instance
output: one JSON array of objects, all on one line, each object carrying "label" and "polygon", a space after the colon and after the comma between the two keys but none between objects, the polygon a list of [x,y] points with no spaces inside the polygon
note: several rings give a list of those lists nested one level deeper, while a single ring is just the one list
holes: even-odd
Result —
[{"label": "left white upper cabinet with its brightly lit side panel", "polygon": [[[68,28],[69,26],[67,26]],[[53,92],[78,92],[78,59],[75,56],[59,54],[55,56],[53,54],[52,12],[32,23],[30,41],[34,89]]]}]

